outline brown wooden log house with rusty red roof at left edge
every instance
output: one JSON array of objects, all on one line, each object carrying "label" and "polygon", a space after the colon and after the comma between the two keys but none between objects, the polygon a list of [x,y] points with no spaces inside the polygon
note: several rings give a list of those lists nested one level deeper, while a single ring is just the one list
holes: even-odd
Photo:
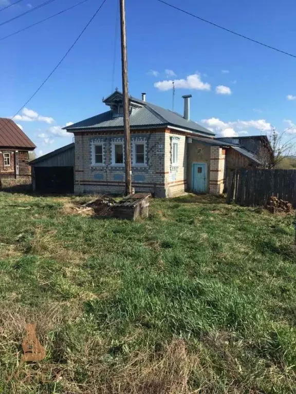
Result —
[{"label": "brown wooden log house with rusty red roof at left edge", "polygon": [[30,175],[29,152],[35,145],[12,120],[0,118],[0,178]]}]

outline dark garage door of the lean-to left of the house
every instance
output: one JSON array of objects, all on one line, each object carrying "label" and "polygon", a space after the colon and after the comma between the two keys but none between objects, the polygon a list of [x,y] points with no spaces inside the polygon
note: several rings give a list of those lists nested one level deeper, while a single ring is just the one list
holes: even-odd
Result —
[{"label": "dark garage door of the lean-to left of the house", "polygon": [[34,167],[36,191],[73,193],[73,167]]}]

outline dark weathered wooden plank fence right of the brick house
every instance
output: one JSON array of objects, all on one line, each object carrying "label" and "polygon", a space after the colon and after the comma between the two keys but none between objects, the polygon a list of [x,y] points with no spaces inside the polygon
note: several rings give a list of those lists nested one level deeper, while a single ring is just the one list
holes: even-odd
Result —
[{"label": "dark weathered wooden plank fence right of the brick house", "polygon": [[227,203],[265,206],[272,195],[296,207],[296,170],[241,169],[231,172]]}]

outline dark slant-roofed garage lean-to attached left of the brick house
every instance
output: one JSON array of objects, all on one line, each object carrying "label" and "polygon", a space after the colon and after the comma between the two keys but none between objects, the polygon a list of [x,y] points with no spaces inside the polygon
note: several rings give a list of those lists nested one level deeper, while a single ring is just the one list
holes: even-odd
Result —
[{"label": "dark slant-roofed garage lean-to attached left of the brick house", "polygon": [[74,161],[73,143],[32,160],[33,191],[73,193]]}]

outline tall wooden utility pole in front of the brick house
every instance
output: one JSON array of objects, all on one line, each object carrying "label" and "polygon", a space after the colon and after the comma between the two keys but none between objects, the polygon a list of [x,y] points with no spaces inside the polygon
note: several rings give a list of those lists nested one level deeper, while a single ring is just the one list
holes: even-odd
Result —
[{"label": "tall wooden utility pole in front of the brick house", "polygon": [[128,102],[127,81],[127,51],[125,27],[125,0],[120,2],[120,32],[121,32],[121,68],[122,68],[122,93],[123,93],[123,125],[125,147],[125,192],[132,193],[132,165],[131,165],[131,131],[130,131],[130,103]]}]

